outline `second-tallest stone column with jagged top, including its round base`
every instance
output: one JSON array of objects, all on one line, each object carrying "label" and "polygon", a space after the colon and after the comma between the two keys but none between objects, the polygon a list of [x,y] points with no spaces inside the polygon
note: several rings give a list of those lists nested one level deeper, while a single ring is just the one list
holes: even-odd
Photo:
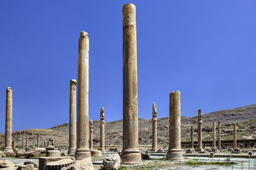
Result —
[{"label": "second-tallest stone column with jagged top, including its round base", "polygon": [[77,71],[77,149],[75,157],[81,160],[91,157],[89,150],[89,38],[88,33],[82,31],[78,48]]}]

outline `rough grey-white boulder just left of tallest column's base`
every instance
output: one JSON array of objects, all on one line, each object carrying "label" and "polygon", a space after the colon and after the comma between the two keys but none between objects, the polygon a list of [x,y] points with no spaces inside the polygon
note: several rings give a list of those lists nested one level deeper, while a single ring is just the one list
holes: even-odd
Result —
[{"label": "rough grey-white boulder just left of tallest column's base", "polygon": [[118,169],[121,166],[121,162],[122,160],[120,159],[120,156],[115,153],[112,155],[109,155],[108,157],[106,157],[103,162],[102,165],[100,166],[102,169]]}]

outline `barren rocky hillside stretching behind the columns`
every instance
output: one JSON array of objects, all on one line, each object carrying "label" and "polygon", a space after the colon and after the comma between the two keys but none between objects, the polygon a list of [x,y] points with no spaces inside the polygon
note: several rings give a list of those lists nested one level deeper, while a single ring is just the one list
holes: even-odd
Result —
[{"label": "barren rocky hillside stretching behind the columns", "polygon": [[[221,121],[223,139],[232,139],[232,124],[237,123],[238,138],[256,138],[256,104],[236,108],[232,110],[214,111],[203,115],[203,137],[212,138],[212,122]],[[157,138],[158,145],[168,145],[169,118],[158,118]],[[194,138],[196,139],[197,117],[181,117],[181,138],[182,141],[190,139],[190,127],[194,126]],[[217,125],[217,123],[216,123]],[[151,145],[152,122],[147,119],[139,119],[139,144]],[[99,120],[93,121],[93,145],[99,146]],[[36,145],[36,135],[40,133],[40,141],[48,138],[54,139],[56,145],[68,146],[68,124],[58,125],[51,129],[29,129],[13,132],[13,139],[17,145],[21,145],[22,134],[29,134],[29,145]],[[122,145],[122,120],[105,123],[106,145]],[[4,141],[0,135],[0,144]]]}]

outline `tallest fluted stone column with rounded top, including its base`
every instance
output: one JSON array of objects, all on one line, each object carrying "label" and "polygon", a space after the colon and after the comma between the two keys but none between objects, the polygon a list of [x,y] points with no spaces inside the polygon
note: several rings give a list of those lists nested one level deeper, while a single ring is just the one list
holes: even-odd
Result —
[{"label": "tallest fluted stone column with rounded top, including its base", "polygon": [[123,6],[123,164],[140,164],[138,141],[136,8]]}]

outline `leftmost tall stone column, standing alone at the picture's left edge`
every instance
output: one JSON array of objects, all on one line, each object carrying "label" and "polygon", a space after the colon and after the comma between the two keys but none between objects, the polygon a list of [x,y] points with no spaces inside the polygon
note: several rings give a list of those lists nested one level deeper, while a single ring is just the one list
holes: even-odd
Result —
[{"label": "leftmost tall stone column, standing alone at the picture's left edge", "polygon": [[6,116],[5,116],[5,141],[4,151],[12,152],[12,90],[6,89]]}]

